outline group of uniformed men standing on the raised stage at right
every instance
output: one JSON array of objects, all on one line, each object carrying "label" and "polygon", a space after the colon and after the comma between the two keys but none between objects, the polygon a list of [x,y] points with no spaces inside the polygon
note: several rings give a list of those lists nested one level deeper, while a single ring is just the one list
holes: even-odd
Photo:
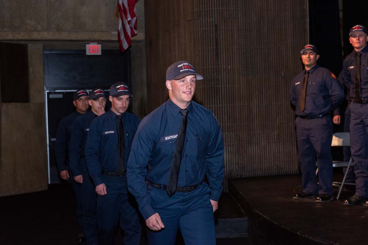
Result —
[{"label": "group of uniformed men standing on the raised stage at right", "polygon": [[[340,124],[339,106],[346,98],[348,108],[344,129],[350,131],[350,149],[344,149],[344,160],[349,160],[351,150],[354,173],[348,174],[348,181],[355,182],[355,194],[344,204],[368,206],[367,34],[363,25],[350,29],[349,40],[354,51],[344,59],[339,80],[328,69],[317,65],[319,54],[315,45],[308,44],[300,51],[305,69],[291,83],[290,101],[296,107],[295,126],[303,190],[294,199],[315,197],[316,202],[333,200],[332,123]],[[332,110],[333,118],[330,117]],[[319,184],[315,174],[316,158]]]}]

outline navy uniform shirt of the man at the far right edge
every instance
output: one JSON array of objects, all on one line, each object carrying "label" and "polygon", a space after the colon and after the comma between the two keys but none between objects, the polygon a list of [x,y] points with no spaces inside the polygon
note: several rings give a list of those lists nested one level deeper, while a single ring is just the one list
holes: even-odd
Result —
[{"label": "navy uniform shirt of the man at the far right edge", "polygon": [[[360,97],[368,98],[368,45],[361,51],[360,56]],[[355,60],[357,52],[351,52],[344,59],[343,63],[343,78],[344,84],[348,88],[348,93],[351,98],[355,98]]]}]

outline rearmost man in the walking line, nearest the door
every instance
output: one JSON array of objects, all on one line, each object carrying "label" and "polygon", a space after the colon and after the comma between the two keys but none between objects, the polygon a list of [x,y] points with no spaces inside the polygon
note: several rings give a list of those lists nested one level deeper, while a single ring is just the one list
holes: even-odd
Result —
[{"label": "rearmost man in the walking line, nearest the door", "polygon": [[[79,226],[79,233],[77,242],[85,240],[83,229],[83,209],[81,200],[81,185],[74,181],[74,176],[69,168],[68,150],[70,143],[71,127],[75,118],[82,116],[88,110],[88,92],[84,89],[77,90],[73,94],[73,104],[75,111],[68,116],[61,119],[56,133],[55,155],[57,168],[60,171],[60,177],[64,180],[70,180],[71,187],[75,194],[76,208],[77,208],[77,222]],[[70,178],[71,177],[71,178]]]}]

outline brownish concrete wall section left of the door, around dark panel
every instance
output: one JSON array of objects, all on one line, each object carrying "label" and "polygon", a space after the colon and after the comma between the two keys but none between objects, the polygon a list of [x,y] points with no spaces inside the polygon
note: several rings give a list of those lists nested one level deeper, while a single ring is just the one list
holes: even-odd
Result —
[{"label": "brownish concrete wall section left of the door, around dark panel", "polygon": [[42,45],[28,45],[30,103],[1,104],[1,189],[13,195],[47,188]]}]

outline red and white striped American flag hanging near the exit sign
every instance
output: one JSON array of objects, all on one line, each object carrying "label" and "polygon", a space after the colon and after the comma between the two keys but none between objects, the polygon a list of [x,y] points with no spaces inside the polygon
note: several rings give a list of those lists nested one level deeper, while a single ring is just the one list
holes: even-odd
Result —
[{"label": "red and white striped American flag hanging near the exit sign", "polygon": [[118,0],[119,29],[117,34],[121,52],[131,45],[131,37],[137,35],[135,2],[136,0]]}]

